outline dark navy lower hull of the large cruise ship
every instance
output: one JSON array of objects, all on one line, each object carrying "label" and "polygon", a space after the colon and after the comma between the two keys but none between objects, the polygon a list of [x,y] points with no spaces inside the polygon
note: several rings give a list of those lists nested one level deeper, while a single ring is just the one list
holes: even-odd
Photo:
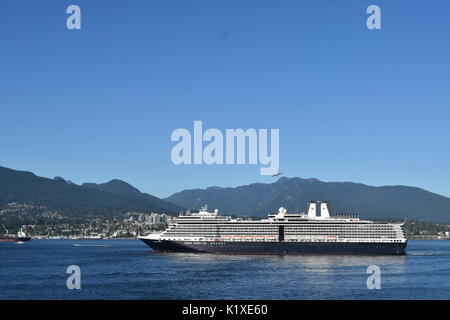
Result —
[{"label": "dark navy lower hull of the large cruise ship", "polygon": [[407,242],[175,241],[140,238],[156,252],[260,255],[405,255]]}]

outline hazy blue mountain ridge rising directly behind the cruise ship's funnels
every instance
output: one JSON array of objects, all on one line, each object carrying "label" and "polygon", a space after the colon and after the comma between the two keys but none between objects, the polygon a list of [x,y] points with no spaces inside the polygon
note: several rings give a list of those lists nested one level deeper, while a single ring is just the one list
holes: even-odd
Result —
[{"label": "hazy blue mountain ridge rising directly behind the cruise ship's funnels", "polygon": [[310,200],[331,201],[332,212],[359,213],[365,218],[414,219],[450,223],[450,199],[426,190],[405,187],[373,187],[351,182],[281,178],[270,184],[254,183],[236,188],[210,187],[185,190],[164,199],[196,209],[236,215],[266,216],[283,206],[290,212],[304,211]]}]

